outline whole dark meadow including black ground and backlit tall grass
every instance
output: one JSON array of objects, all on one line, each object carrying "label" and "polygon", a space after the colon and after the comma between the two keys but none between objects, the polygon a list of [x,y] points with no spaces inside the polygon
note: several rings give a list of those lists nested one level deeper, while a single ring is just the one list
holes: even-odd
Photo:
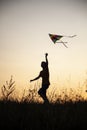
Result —
[{"label": "whole dark meadow including black ground and backlit tall grass", "polygon": [[[0,99],[0,130],[60,130],[60,129],[85,129],[87,126],[87,100],[81,94],[55,92],[49,95],[49,104],[37,100],[37,90],[25,92],[21,100],[12,95],[15,82],[10,81],[2,86]],[[56,97],[56,100],[54,100]]]}]

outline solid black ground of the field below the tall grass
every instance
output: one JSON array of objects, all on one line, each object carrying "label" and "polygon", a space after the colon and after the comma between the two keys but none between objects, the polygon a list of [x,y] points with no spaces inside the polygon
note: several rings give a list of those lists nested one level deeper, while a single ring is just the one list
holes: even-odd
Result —
[{"label": "solid black ground of the field below the tall grass", "polygon": [[87,101],[40,104],[0,101],[0,130],[85,129]]}]

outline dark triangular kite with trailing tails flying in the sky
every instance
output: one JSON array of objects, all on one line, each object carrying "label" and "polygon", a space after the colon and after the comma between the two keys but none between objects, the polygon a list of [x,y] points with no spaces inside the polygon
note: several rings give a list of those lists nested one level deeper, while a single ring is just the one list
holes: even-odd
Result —
[{"label": "dark triangular kite with trailing tails flying in the sky", "polygon": [[[62,40],[60,40],[62,37],[69,37],[69,38],[73,38],[75,37],[76,35],[73,35],[73,36],[63,36],[63,35],[56,35],[56,34],[49,34],[49,37],[51,38],[51,40],[55,43],[62,43],[66,48],[68,48],[66,46],[65,43],[67,42],[63,42]],[[60,40],[59,42],[57,42],[58,40]]]}]

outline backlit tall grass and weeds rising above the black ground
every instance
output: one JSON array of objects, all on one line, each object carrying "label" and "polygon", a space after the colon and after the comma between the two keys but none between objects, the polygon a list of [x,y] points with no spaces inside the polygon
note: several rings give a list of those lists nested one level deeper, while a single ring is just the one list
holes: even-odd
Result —
[{"label": "backlit tall grass and weeds rising above the black ground", "polygon": [[[87,85],[85,83],[85,85]],[[33,90],[29,87],[28,90],[24,89],[23,94],[20,99],[17,97],[15,98],[14,90],[15,88],[15,81],[13,80],[13,76],[11,76],[9,81],[6,81],[5,84],[1,87],[1,95],[2,100],[18,100],[20,102],[37,102],[42,103],[42,98],[38,95],[38,88],[40,84],[37,83],[33,86]],[[83,87],[83,86],[82,86]],[[47,90],[47,97],[50,103],[65,103],[65,102],[76,102],[76,101],[85,101],[87,100],[84,97],[84,90],[80,85],[75,88],[62,88],[56,90],[55,87],[51,91]],[[84,91],[84,92],[83,92]]]}]

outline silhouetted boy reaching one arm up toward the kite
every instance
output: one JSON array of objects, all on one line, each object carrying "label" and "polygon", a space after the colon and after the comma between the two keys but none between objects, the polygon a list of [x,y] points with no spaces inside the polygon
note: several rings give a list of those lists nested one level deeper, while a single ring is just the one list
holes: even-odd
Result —
[{"label": "silhouetted boy reaching one arm up toward the kite", "polygon": [[48,56],[48,54],[46,53],[45,54],[46,62],[44,62],[44,61],[41,62],[42,71],[40,71],[39,76],[30,80],[30,82],[32,82],[32,81],[39,79],[40,77],[42,78],[42,87],[39,89],[38,94],[43,98],[44,103],[48,102],[48,99],[47,99],[47,96],[46,96],[46,91],[47,91],[47,89],[50,85],[47,56]]}]

